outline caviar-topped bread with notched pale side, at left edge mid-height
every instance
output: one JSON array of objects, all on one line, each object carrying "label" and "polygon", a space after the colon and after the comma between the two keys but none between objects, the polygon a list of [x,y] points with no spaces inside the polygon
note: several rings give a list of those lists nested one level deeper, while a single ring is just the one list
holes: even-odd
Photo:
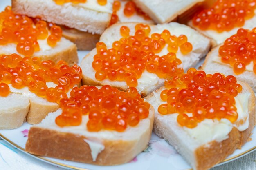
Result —
[{"label": "caviar-topped bread with notched pale side, at left edge mid-height", "polygon": [[[24,107],[16,111],[3,108],[6,111],[2,113],[9,113],[0,114],[1,119],[6,120],[4,125],[0,125],[3,129],[17,128],[25,119],[30,124],[39,123],[49,112],[56,111],[60,100],[67,98],[67,93],[81,81],[81,68],[76,64],[69,67],[64,61],[55,64],[51,60],[41,61],[38,57],[22,58],[12,54],[0,55],[0,64],[1,99],[12,100],[7,105],[13,103],[15,108],[20,104],[20,98],[24,98],[24,102],[21,102]],[[18,97],[13,97],[15,95]],[[16,113],[17,110],[20,110],[20,114]]]}]

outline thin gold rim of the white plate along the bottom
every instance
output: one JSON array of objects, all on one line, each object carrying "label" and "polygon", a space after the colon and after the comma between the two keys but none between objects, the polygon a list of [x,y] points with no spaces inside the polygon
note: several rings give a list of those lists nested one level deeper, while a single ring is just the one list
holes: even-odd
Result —
[{"label": "thin gold rim of the white plate along the bottom", "polygon": [[[9,140],[9,139],[7,139],[5,136],[3,136],[1,133],[0,133],[0,137],[2,137],[2,139],[4,139],[5,141],[7,141],[9,144],[11,144],[11,145],[15,146],[16,148],[22,150],[23,152],[26,152],[24,148],[22,148],[22,147],[18,146],[17,144],[13,143],[11,140]],[[240,156],[242,156],[242,155],[245,155],[245,154],[247,154],[248,152],[251,152],[251,151],[253,151],[253,150],[256,150],[256,146],[254,146],[253,148],[250,148],[249,150],[246,150],[245,152],[242,152],[242,153],[240,153],[240,154],[238,154],[238,155],[235,155],[234,157],[227,158],[227,159],[225,159],[224,161],[222,161],[222,162],[220,162],[220,163],[225,163],[225,162],[227,162],[227,161],[231,161],[231,160],[236,159],[237,157],[240,157]],[[28,152],[26,152],[26,153],[28,153]],[[28,153],[28,154],[29,154],[29,155],[33,155],[33,154],[30,154],[30,153]],[[63,163],[58,163],[58,162],[56,162],[56,161],[52,161],[52,160],[49,160],[49,159],[47,159],[47,158],[45,158],[45,157],[41,157],[41,156],[37,156],[37,155],[33,155],[33,156],[34,156],[34,157],[37,157],[37,158],[39,158],[39,159],[42,159],[42,160],[44,160],[44,161],[50,162],[50,163],[54,163],[54,164],[56,164],[56,165],[58,165],[58,166],[62,166],[62,167],[66,167],[66,168],[72,168],[72,169],[74,169],[74,170],[90,170],[90,169],[85,169],[85,168],[78,168],[78,167],[74,167],[74,166],[69,166],[69,165],[66,165],[66,164],[63,164]],[[186,169],[186,170],[192,170],[192,169]]]}]

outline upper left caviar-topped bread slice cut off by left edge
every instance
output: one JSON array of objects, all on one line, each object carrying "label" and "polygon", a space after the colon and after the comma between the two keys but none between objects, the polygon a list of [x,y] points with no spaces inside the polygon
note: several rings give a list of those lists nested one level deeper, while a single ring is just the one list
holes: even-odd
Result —
[{"label": "upper left caviar-topped bread slice cut off by left edge", "polygon": [[78,62],[76,46],[62,38],[59,26],[15,14],[11,7],[0,13],[0,54],[19,53],[23,57],[37,56],[43,60]]}]

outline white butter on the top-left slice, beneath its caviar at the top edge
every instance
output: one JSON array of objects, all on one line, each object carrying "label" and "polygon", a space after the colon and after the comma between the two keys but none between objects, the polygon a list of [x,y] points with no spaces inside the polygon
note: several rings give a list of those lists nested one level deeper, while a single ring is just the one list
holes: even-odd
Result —
[{"label": "white butter on the top-left slice, beneath its caviar at the top edge", "polygon": [[73,4],[73,3],[65,3],[64,6],[74,6],[74,7],[83,7],[85,9],[90,9],[92,11],[102,12],[102,13],[110,13],[112,14],[112,5],[113,0],[107,0],[106,5],[98,4],[97,0],[86,0],[85,3]]}]

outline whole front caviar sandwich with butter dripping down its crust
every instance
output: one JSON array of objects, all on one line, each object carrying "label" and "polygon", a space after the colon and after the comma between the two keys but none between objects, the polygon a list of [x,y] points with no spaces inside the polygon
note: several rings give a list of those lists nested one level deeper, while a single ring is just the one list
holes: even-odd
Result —
[{"label": "whole front caviar sandwich with butter dripping down its crust", "polygon": [[81,86],[70,95],[60,110],[30,128],[27,152],[116,165],[131,161],[147,147],[154,109],[135,88],[123,92],[108,85]]}]

